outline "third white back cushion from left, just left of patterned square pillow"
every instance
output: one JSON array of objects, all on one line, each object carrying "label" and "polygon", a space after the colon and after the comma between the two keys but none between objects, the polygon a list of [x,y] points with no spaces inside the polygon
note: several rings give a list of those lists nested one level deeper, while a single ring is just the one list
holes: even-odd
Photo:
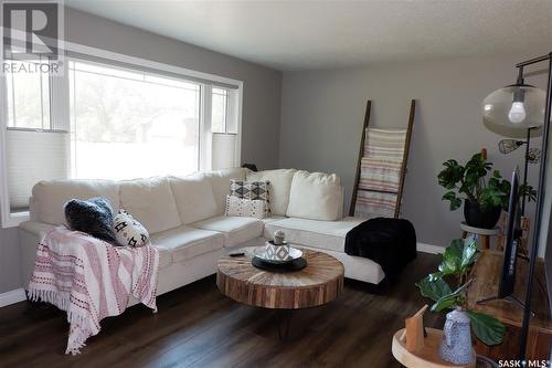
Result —
[{"label": "third white back cushion from left, just left of patterned square pillow", "polygon": [[189,177],[169,177],[172,194],[183,224],[217,214],[211,181],[203,174]]}]

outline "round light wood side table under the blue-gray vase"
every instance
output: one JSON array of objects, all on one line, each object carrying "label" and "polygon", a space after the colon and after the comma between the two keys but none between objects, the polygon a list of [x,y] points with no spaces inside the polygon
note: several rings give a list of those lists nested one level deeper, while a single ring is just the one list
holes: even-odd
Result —
[{"label": "round light wood side table under the blue-gray vase", "polygon": [[443,330],[427,328],[427,337],[424,339],[424,347],[416,354],[406,349],[405,329],[402,328],[393,336],[391,351],[395,359],[407,368],[475,368],[476,362],[459,366],[445,361],[439,357],[438,347],[443,338]]}]

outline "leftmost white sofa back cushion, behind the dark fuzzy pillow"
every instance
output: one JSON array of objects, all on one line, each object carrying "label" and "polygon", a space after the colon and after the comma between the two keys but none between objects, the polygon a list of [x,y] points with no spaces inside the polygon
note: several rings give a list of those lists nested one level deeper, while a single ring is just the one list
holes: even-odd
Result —
[{"label": "leftmost white sofa back cushion, behind the dark fuzzy pillow", "polygon": [[104,197],[114,212],[119,210],[119,186],[110,180],[43,180],[34,185],[33,218],[51,224],[65,224],[64,206],[71,199]]}]

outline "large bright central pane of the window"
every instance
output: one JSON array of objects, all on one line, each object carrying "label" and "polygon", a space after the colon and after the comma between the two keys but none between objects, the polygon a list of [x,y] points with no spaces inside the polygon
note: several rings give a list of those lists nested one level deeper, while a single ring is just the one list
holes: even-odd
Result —
[{"label": "large bright central pane of the window", "polygon": [[73,178],[198,171],[199,84],[70,61],[70,91]]}]

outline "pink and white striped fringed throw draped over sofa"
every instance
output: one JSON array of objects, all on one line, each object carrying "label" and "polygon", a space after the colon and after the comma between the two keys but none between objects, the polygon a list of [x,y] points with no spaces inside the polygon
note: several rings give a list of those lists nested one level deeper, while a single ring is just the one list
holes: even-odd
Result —
[{"label": "pink and white striped fringed throw draped over sofa", "polygon": [[31,299],[52,303],[67,313],[65,354],[78,354],[99,322],[125,312],[130,295],[157,312],[159,252],[113,246],[78,231],[59,227],[39,243],[29,283]]}]

